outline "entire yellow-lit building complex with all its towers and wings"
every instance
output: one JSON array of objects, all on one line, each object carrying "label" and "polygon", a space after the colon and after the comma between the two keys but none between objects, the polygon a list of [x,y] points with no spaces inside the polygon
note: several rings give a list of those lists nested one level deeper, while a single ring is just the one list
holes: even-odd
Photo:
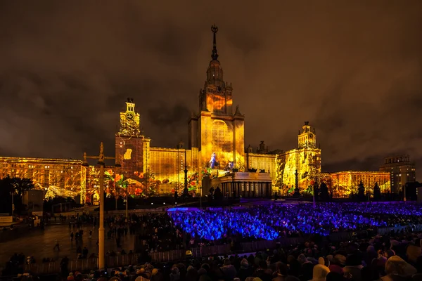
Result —
[{"label": "entire yellow-lit building complex with all its towers and wings", "polygon": [[[290,195],[295,188],[307,194],[312,192],[315,182],[326,183],[333,197],[347,197],[357,190],[360,181],[369,190],[378,183],[385,192],[390,182],[393,190],[399,190],[415,180],[415,167],[409,156],[385,159],[380,172],[321,174],[321,149],[316,145],[316,132],[309,122],[299,131],[298,147],[293,150],[271,151],[264,141],[256,149],[245,148],[245,116],[238,106],[234,107],[231,83],[224,81],[217,53],[217,31],[213,26],[211,60],[203,89],[199,91],[198,111],[188,121],[187,146],[179,143],[174,148],[151,147],[151,138],[140,129],[142,120],[134,100],[129,98],[120,112],[120,128],[115,133],[118,167],[106,168],[104,184],[108,193],[151,196],[180,191],[185,186],[198,192],[204,174],[217,178],[213,183],[221,185],[224,192],[259,197],[274,192]],[[82,162],[0,157],[0,176],[32,178],[39,188],[56,190],[55,194],[75,192],[75,196],[80,192],[82,203],[96,202],[99,169],[86,164],[86,159]]]}]

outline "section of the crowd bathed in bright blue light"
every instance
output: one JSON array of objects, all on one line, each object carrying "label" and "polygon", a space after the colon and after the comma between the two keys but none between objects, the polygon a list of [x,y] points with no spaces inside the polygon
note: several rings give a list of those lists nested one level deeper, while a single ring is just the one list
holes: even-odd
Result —
[{"label": "section of the crowd bathed in bright blue light", "polygon": [[343,231],[422,223],[413,203],[279,204],[253,208],[172,211],[174,226],[192,237],[219,240],[230,235],[274,240],[292,235],[329,235]]}]

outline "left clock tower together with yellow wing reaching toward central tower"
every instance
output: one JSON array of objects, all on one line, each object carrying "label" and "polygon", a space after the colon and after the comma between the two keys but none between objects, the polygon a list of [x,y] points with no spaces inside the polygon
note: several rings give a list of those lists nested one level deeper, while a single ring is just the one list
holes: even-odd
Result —
[{"label": "left clock tower together with yellow wing reaching toward central tower", "polygon": [[[135,103],[128,99],[126,111],[120,112],[120,130],[115,135],[115,159],[116,164],[121,166],[116,173],[129,179],[130,194],[134,194],[136,188],[151,188],[147,185],[152,178],[154,184],[172,185],[172,188],[179,189],[184,183],[185,164],[189,174],[198,171],[198,148],[186,150],[183,143],[179,143],[177,148],[151,147],[151,139],[140,131],[139,122]],[[168,191],[165,187],[160,189],[163,188],[163,191]]]}]

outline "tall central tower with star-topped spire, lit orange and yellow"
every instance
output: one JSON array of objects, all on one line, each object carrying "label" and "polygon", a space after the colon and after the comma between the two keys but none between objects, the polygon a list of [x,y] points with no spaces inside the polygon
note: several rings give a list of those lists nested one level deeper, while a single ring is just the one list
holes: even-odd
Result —
[{"label": "tall central tower with star-topped spire, lit orange and yellow", "polygon": [[245,164],[244,115],[238,106],[233,110],[231,84],[224,81],[223,69],[218,60],[216,34],[213,35],[207,79],[199,91],[199,114],[189,122],[189,148],[198,148],[200,166],[226,169],[234,164],[243,170]]}]

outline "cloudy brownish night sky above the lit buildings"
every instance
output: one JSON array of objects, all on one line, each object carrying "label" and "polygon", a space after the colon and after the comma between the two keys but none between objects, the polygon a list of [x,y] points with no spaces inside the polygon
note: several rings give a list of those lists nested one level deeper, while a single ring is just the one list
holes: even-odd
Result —
[{"label": "cloudy brownish night sky above the lit buildings", "polygon": [[127,97],[151,145],[187,142],[215,23],[245,145],[309,121],[325,171],[422,163],[422,1],[165,2],[1,1],[0,155],[113,156]]}]

